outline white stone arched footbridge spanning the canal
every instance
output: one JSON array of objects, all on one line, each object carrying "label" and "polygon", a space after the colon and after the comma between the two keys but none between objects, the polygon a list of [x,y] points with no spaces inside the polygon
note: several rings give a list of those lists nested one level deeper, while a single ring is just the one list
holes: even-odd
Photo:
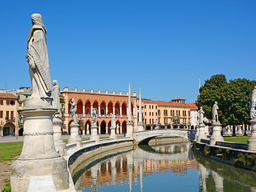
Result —
[{"label": "white stone arched footbridge spanning the canal", "polygon": [[190,129],[152,129],[146,131],[133,132],[133,138],[137,145],[148,144],[148,141],[154,137],[181,137],[189,141],[193,141],[196,135],[196,130]]}]

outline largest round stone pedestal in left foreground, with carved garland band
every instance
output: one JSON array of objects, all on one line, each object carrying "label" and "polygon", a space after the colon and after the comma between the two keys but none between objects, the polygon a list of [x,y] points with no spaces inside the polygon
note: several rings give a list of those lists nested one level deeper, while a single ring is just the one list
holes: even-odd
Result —
[{"label": "largest round stone pedestal in left foreground, with carved garland band", "polygon": [[26,192],[33,177],[52,178],[57,191],[69,188],[67,161],[53,142],[52,119],[57,111],[52,99],[26,99],[19,110],[24,121],[24,142],[20,157],[11,165],[12,192]]}]

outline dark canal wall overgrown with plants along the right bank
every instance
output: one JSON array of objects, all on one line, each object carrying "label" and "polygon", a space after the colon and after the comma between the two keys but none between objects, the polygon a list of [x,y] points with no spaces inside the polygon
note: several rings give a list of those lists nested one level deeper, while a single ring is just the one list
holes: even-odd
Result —
[{"label": "dark canal wall overgrown with plants along the right bank", "polygon": [[[226,143],[226,142],[225,142]],[[217,144],[217,143],[216,143]],[[238,143],[228,143],[230,146],[236,147]],[[240,146],[244,148],[243,146]],[[256,171],[256,152],[247,151],[244,149],[230,148],[219,145],[209,145],[203,142],[193,141],[193,151],[197,154],[221,161],[227,164],[232,164],[237,167]]]}]

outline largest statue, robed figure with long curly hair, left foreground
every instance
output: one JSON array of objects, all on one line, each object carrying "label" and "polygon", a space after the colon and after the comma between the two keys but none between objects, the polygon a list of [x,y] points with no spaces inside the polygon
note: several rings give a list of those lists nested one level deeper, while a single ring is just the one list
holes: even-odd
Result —
[{"label": "largest statue, robed figure with long curly hair, left foreground", "polygon": [[46,28],[42,16],[38,13],[31,15],[32,28],[28,35],[29,76],[32,84],[31,98],[51,97],[51,75],[46,45]]}]

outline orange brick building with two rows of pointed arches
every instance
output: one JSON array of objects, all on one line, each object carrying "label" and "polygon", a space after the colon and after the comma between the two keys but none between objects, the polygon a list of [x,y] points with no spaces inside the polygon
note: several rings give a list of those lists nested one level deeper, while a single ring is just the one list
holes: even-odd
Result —
[{"label": "orange brick building with two rows of pointed arches", "polygon": [[[110,132],[110,113],[115,114],[116,124],[119,124],[119,130],[116,132],[126,132],[126,123],[128,121],[128,92],[65,87],[64,89],[60,90],[60,93],[63,95],[65,100],[65,108],[62,110],[63,112],[65,111],[63,120],[65,124],[65,130],[68,131],[68,133],[70,133],[69,125],[73,121],[73,117],[69,112],[71,107],[69,102],[72,99],[75,99],[76,101],[78,121],[80,119],[84,121],[84,126],[86,126],[88,123],[90,133],[92,125],[92,108],[95,108],[97,112],[97,126],[99,127],[99,134]],[[131,93],[131,104],[133,131],[137,131],[136,92]]]}]

